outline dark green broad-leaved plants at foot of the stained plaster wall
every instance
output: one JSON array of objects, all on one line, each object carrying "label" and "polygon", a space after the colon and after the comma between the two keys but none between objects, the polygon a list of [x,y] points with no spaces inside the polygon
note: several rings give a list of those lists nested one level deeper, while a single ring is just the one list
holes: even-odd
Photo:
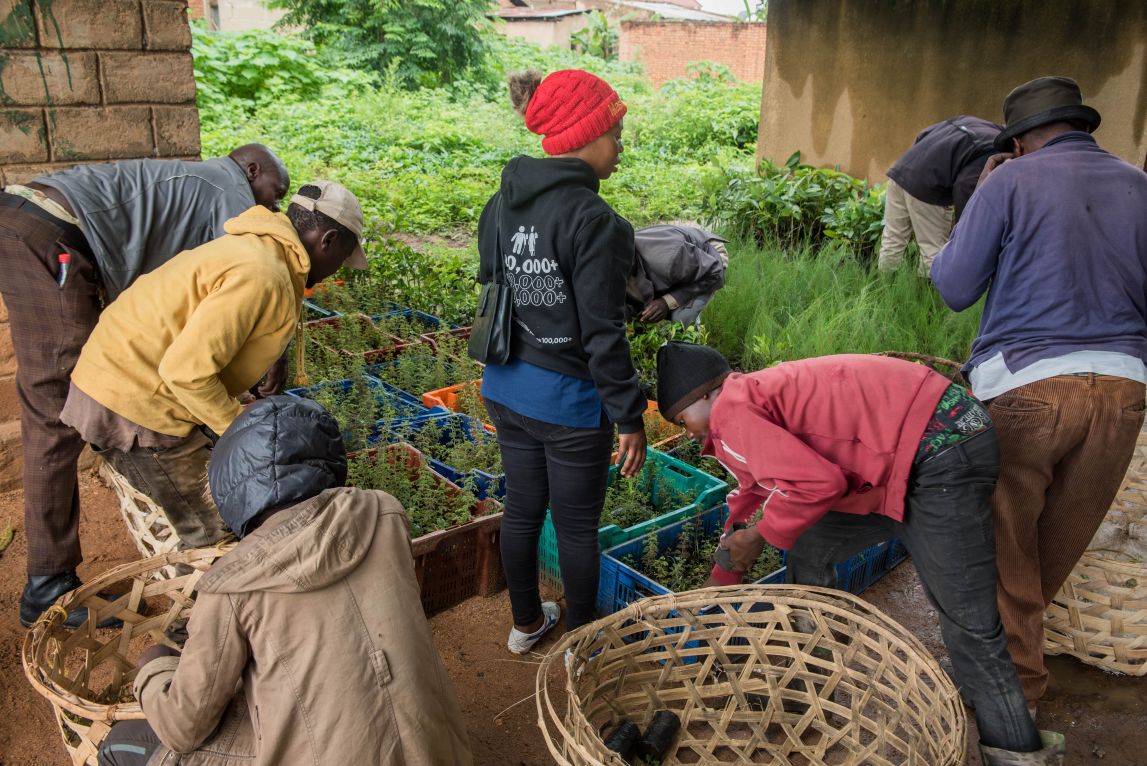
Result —
[{"label": "dark green broad-leaved plants at foot of the stained plaster wall", "polygon": [[803,165],[795,153],[785,165],[764,159],[756,171],[727,167],[710,188],[707,209],[726,234],[758,244],[837,241],[871,258],[883,228],[884,195],[841,171]]}]

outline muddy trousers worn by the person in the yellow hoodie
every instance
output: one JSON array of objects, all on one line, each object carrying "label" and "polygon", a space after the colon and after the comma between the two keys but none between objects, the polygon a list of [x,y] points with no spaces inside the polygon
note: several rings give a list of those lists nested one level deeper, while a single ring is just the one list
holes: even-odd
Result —
[{"label": "muddy trousers worn by the person in the yellow hoodie", "polygon": [[173,447],[133,447],[124,452],[92,446],[127,482],[151,498],[175,530],[184,548],[212,546],[228,534],[208,491],[211,440],[198,429]]}]

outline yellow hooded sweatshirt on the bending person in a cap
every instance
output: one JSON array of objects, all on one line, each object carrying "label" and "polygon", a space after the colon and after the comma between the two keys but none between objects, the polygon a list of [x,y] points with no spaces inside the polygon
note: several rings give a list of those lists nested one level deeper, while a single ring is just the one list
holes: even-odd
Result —
[{"label": "yellow hooded sweatshirt on the bending person in a cap", "polygon": [[100,315],[72,383],[133,423],[223,433],[290,343],[311,259],[282,213],[255,206],[226,235],[140,276]]}]

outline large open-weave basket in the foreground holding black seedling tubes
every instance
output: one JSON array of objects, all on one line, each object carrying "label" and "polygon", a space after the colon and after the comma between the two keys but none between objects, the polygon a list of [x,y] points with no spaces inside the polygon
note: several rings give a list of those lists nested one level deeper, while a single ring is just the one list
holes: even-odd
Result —
[{"label": "large open-weave basket in the foreground holding black seedling tubes", "polygon": [[546,744],[565,766],[622,766],[606,734],[625,719],[643,729],[660,710],[681,720],[662,766],[950,766],[965,757],[963,706],[923,646],[826,588],[638,601],[568,634],[541,663],[537,690]]}]

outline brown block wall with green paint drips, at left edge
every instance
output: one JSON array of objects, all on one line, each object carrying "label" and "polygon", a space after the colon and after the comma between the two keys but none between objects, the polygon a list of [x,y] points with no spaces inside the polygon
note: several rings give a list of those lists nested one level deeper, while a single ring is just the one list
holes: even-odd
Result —
[{"label": "brown block wall with green paint drips, at left edge", "polygon": [[[198,158],[186,0],[0,0],[0,183],[86,162]],[[19,416],[0,304],[0,491]]]}]

